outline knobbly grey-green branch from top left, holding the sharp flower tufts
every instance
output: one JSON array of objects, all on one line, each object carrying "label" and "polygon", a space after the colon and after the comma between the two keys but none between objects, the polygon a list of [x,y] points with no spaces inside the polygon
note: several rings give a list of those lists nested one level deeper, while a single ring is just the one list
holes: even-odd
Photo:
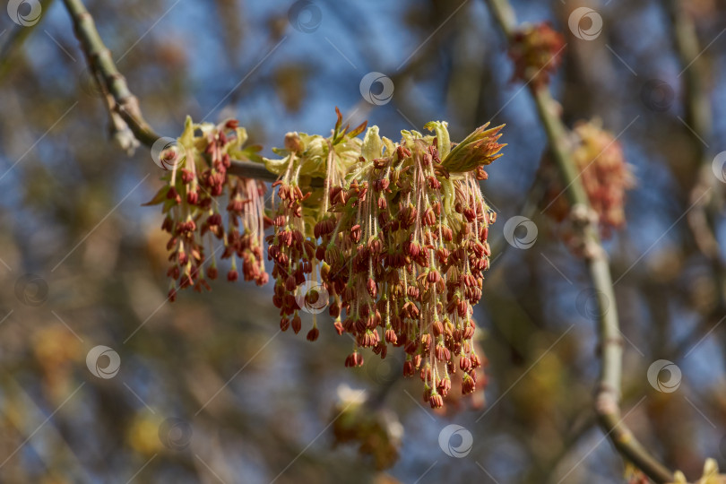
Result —
[{"label": "knobbly grey-green branch from top left, holding the sharp flower tufts", "polygon": [[[71,16],[75,36],[81,43],[91,73],[99,85],[99,90],[106,95],[111,131],[117,142],[125,151],[133,150],[134,143],[126,136],[127,129],[133,134],[134,141],[138,140],[151,148],[161,136],[143,118],[139,101],[129,90],[125,77],[118,71],[111,51],[103,43],[96,29],[91,13],[86,10],[82,0],[63,0],[63,2]],[[263,164],[250,161],[233,160],[229,173],[264,181],[277,179],[277,176],[267,171]]]}]

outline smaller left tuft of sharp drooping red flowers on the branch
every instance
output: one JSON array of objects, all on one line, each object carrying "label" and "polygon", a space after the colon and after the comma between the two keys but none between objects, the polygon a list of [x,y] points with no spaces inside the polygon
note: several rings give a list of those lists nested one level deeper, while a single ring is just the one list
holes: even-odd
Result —
[{"label": "smaller left tuft of sharp drooping red flowers on the branch", "polygon": [[[229,176],[232,159],[260,160],[258,147],[243,148],[246,130],[235,120],[196,125],[186,119],[184,133],[158,153],[169,169],[167,182],[147,205],[162,204],[161,229],[169,233],[169,299],[177,290],[207,290],[217,278],[216,255],[231,259],[229,281],[238,279],[238,259],[245,281],[262,285],[264,272],[264,183]],[[219,240],[215,244],[214,240]],[[217,246],[214,249],[214,246]]]}]

